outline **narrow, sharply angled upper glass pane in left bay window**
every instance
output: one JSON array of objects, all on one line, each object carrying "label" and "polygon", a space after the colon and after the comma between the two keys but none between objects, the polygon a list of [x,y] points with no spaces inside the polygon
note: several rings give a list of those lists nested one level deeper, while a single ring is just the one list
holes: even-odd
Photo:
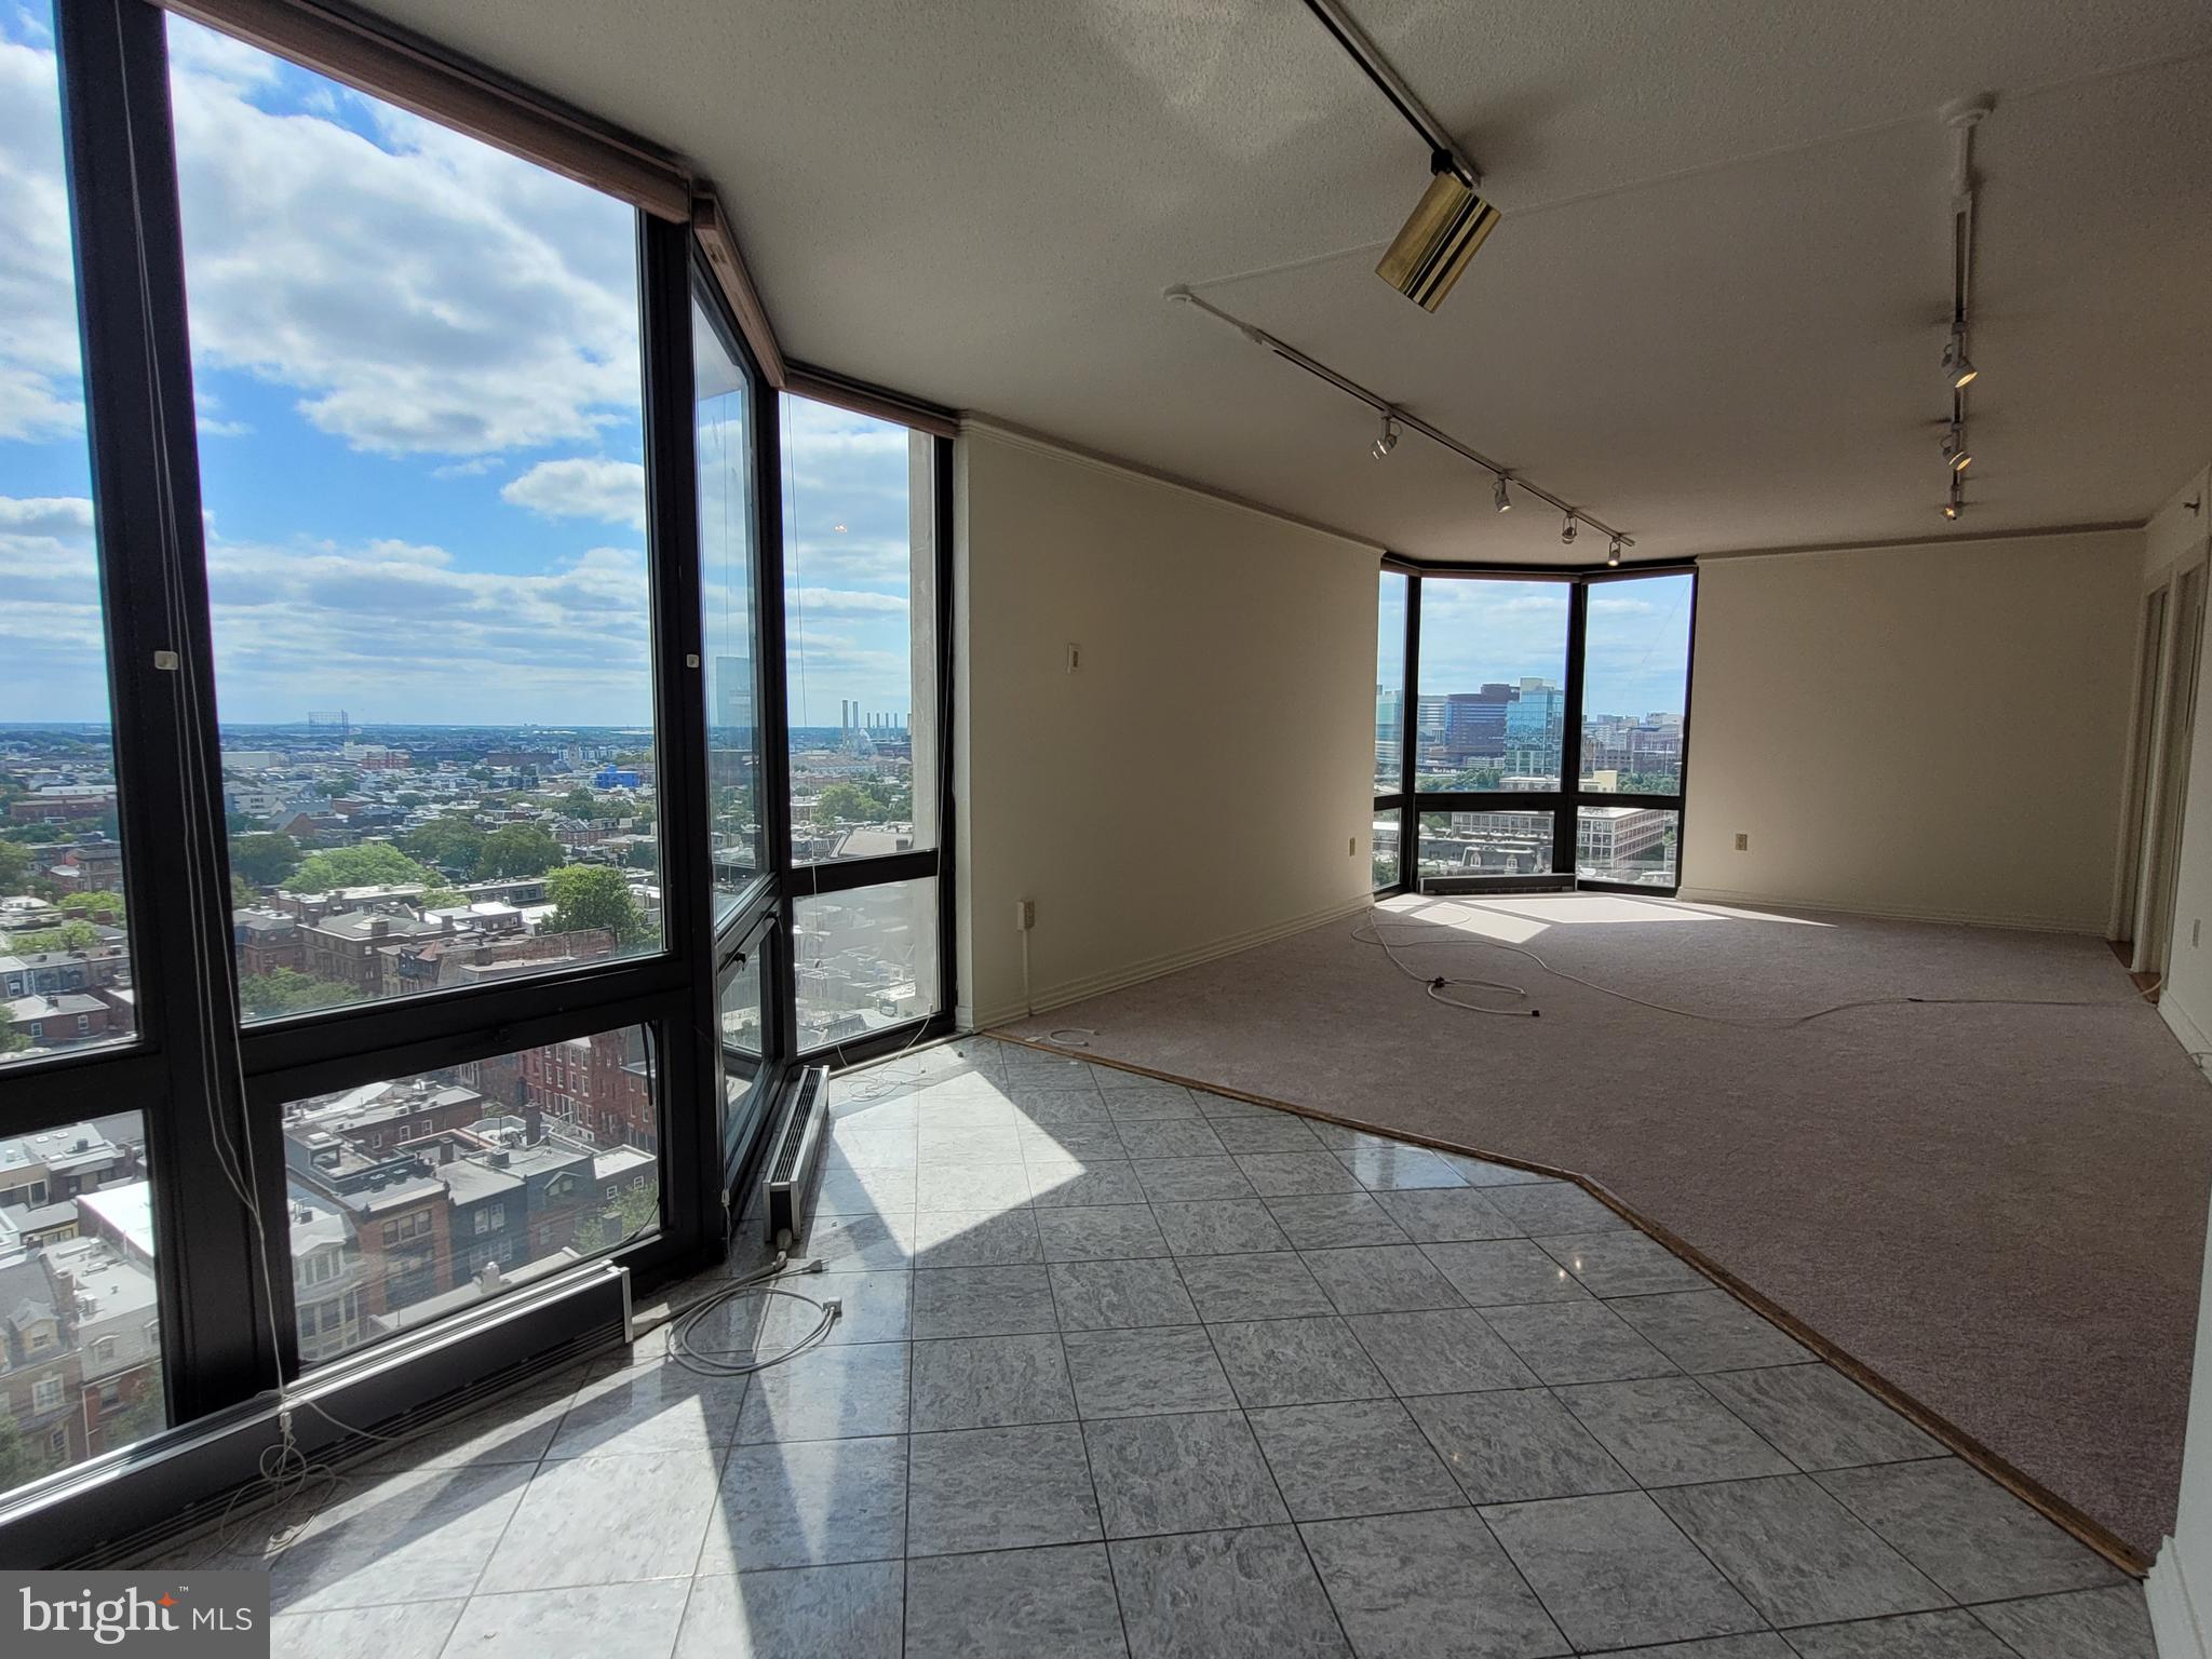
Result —
[{"label": "narrow, sharply angled upper glass pane in left bay window", "polygon": [[714,914],[728,916],[761,878],[759,697],[761,628],[752,611],[752,387],[721,330],[692,301],[692,380],[699,400],[699,577],[706,602],[708,790],[712,792]]}]

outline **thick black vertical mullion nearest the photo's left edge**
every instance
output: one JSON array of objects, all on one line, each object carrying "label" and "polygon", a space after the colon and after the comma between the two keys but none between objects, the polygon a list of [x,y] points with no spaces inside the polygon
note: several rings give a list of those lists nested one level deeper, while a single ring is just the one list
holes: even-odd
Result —
[{"label": "thick black vertical mullion nearest the photo's left edge", "polygon": [[[281,1164],[250,1141],[237,1048],[199,458],[161,13],[58,7],[86,425],[115,681],[139,1011],[164,1099],[146,1110],[173,1420],[274,1380],[252,1214]],[[135,845],[133,845],[135,843]]]}]

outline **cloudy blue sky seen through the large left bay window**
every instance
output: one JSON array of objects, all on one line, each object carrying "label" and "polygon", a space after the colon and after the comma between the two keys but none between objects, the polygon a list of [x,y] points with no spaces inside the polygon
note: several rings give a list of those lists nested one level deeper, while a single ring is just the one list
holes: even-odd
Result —
[{"label": "cloudy blue sky seen through the large left bay window", "polygon": [[[46,24],[0,0],[0,721],[106,712]],[[221,717],[648,721],[633,212],[168,31]],[[905,434],[785,425],[794,719],[905,712]]]}]

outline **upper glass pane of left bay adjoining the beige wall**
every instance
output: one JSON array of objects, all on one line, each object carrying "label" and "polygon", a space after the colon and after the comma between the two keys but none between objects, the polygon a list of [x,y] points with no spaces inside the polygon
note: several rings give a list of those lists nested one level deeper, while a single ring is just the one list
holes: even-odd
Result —
[{"label": "upper glass pane of left bay adjoining the beige wall", "polygon": [[936,845],[929,434],[783,398],[792,858]]}]

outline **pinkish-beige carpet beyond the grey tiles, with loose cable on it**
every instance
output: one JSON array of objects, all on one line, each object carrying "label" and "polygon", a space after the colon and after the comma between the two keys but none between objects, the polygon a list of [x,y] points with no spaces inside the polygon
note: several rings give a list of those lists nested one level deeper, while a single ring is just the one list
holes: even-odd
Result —
[{"label": "pinkish-beige carpet beyond the grey tiles, with loose cable on it", "polygon": [[[1088,1051],[1579,1170],[2150,1555],[2174,1520],[2212,1088],[2101,940],[1599,894],[1396,900],[1429,1000],[1352,922],[1022,1022]],[[1790,1015],[1686,1020],[1601,995]],[[1453,993],[1471,995],[1471,993]],[[1526,1006],[1526,1004],[1524,1004]]]}]

